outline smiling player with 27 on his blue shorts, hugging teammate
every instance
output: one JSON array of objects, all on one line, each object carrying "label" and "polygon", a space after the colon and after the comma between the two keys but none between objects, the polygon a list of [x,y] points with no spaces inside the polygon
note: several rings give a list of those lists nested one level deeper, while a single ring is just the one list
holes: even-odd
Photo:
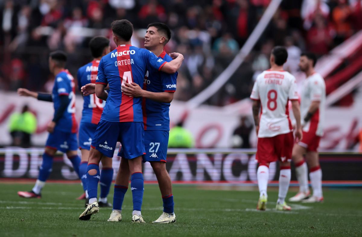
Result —
[{"label": "smiling player with 27 on his blue shorts, hugging teammate", "polygon": [[[164,51],[164,46],[171,38],[171,31],[163,23],[152,23],[147,27],[144,46],[164,61],[171,61],[171,57]],[[163,213],[154,223],[173,223],[176,215],[173,211],[173,195],[171,178],[166,170],[166,156],[169,135],[169,106],[176,91],[177,72],[167,74],[149,69],[145,75],[143,89],[135,83],[126,83],[122,90],[126,95],[142,98],[144,146],[146,154],[143,162],[150,162],[159,183]],[[88,93],[94,93],[94,84],[87,84],[82,88]],[[121,152],[118,154],[123,157]],[[119,220],[123,198],[129,182],[128,162],[122,159],[120,172],[117,174],[114,188],[113,212],[109,221]]]}]

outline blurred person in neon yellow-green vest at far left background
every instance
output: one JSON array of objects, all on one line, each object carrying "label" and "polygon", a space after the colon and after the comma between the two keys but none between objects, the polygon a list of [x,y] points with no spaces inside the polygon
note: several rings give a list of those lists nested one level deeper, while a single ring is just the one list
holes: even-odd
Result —
[{"label": "blurred person in neon yellow-green vest at far left background", "polygon": [[31,134],[37,129],[37,119],[24,105],[21,113],[13,113],[9,118],[9,132],[12,137],[12,146],[30,147]]}]

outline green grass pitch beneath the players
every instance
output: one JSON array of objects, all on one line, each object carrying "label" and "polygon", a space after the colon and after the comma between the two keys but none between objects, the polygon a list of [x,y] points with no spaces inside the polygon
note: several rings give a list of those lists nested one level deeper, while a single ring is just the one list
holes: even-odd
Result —
[{"label": "green grass pitch beneath the players", "polygon": [[[79,184],[48,183],[42,199],[24,199],[17,191],[31,184],[0,184],[0,236],[362,236],[362,190],[324,190],[324,203],[292,205],[274,211],[277,191],[270,190],[267,211],[255,211],[258,192],[203,190],[174,185],[176,223],[152,224],[162,213],[157,185],[145,185],[142,215],[146,224],[132,224],[131,190],[122,218],[109,223],[111,208],[100,208],[90,221],[78,219],[84,201]],[[290,192],[288,198],[295,194]],[[109,195],[112,201],[113,190]],[[308,209],[307,209],[308,208]]]}]

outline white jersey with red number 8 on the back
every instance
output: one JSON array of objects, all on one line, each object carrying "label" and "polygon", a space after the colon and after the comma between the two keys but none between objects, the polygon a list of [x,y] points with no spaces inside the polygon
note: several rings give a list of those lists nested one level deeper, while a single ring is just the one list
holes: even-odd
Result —
[{"label": "white jersey with red number 8 on the back", "polygon": [[258,137],[274,137],[292,131],[288,102],[298,100],[293,75],[286,71],[262,72],[254,83],[250,98],[261,103]]}]

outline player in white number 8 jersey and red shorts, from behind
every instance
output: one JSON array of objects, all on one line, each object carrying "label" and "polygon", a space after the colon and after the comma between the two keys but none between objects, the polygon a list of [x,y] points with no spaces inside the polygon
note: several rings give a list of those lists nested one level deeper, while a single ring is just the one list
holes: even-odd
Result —
[{"label": "player in white number 8 jersey and red shorts, from behind", "polygon": [[290,161],[294,144],[289,118],[289,100],[296,119],[296,140],[302,138],[302,126],[296,80],[289,72],[283,71],[283,64],[287,58],[285,47],[274,47],[270,55],[271,67],[258,75],[250,96],[253,100],[253,116],[258,135],[256,159],[259,163],[257,179],[260,198],[257,209],[262,211],[266,209],[268,200],[266,190],[269,164],[273,161],[279,161],[280,164],[279,195],[275,208],[279,211],[291,209],[285,202],[290,183]]}]

